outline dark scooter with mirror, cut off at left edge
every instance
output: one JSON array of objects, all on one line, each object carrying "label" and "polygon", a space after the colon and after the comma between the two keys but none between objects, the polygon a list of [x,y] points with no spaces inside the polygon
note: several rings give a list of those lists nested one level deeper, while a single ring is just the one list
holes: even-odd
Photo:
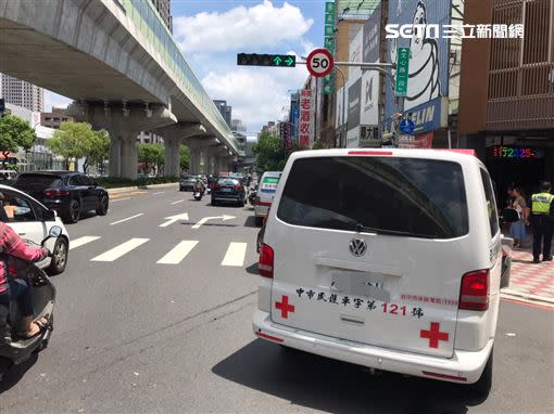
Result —
[{"label": "dark scooter with mirror, cut off at left edge", "polygon": [[[59,225],[52,227],[40,245],[45,246],[47,241],[56,238],[60,234],[62,234],[62,228]],[[33,244],[30,241],[27,241],[27,243]],[[10,308],[0,305],[0,380],[12,365],[25,362],[34,352],[48,347],[54,321],[55,288],[46,272],[34,262],[18,258],[10,258],[10,264],[16,270],[16,277],[26,280],[32,286],[35,318],[47,316],[48,324],[47,328],[39,335],[28,339],[20,339],[15,335],[22,327],[17,302],[13,300]]]}]

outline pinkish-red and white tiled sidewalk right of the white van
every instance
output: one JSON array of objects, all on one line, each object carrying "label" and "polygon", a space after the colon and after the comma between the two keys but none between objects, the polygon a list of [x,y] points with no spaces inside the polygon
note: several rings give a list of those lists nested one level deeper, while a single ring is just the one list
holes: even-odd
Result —
[{"label": "pinkish-red and white tiled sidewalk right of the white van", "polygon": [[515,248],[506,294],[538,296],[554,302],[554,261],[532,262],[530,248]]}]

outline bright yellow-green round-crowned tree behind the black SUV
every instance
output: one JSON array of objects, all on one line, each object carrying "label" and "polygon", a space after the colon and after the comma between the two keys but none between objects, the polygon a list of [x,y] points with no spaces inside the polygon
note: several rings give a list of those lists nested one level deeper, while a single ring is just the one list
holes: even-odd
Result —
[{"label": "bright yellow-green round-crowned tree behind the black SUV", "polygon": [[87,122],[62,122],[60,129],[55,130],[54,137],[47,141],[47,145],[52,153],[65,159],[65,168],[70,169],[72,159],[77,161],[90,151],[95,134],[96,132]]}]

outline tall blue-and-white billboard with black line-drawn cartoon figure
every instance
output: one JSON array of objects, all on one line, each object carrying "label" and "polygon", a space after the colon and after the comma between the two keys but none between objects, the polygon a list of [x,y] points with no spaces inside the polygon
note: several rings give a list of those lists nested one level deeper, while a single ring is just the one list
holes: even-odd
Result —
[{"label": "tall blue-and-white billboard with black line-drawn cartoon figure", "polygon": [[[451,24],[451,0],[389,0],[389,24]],[[444,128],[441,116],[443,100],[449,95],[450,39],[413,36],[408,39],[387,39],[387,61],[396,62],[399,48],[410,48],[410,73],[404,113],[413,113],[415,133]],[[392,70],[393,77],[395,72]],[[424,111],[421,116],[421,111]],[[383,129],[391,130],[392,115],[399,108],[394,85],[387,78]],[[418,116],[418,118],[416,118]]]}]

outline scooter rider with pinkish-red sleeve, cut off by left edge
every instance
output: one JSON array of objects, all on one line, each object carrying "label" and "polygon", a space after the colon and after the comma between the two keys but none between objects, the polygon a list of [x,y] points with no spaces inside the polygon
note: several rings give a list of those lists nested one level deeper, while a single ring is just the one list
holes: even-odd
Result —
[{"label": "scooter rider with pinkish-red sleeve, cut off by left edge", "polygon": [[[22,279],[9,275],[10,257],[18,257],[29,261],[40,261],[48,257],[46,247],[27,246],[25,242],[5,223],[0,221],[0,303],[10,307],[11,300],[17,300],[22,313],[24,332],[20,336],[32,338],[47,328],[47,319],[34,321],[35,309],[30,286]],[[0,325],[5,321],[0,321]]]}]

